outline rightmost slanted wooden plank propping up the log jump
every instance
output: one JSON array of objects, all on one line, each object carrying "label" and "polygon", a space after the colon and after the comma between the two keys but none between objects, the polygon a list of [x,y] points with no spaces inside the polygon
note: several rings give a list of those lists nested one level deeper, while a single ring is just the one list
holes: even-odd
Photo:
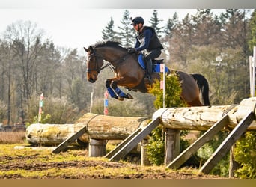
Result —
[{"label": "rightmost slanted wooden plank propping up the log jump", "polygon": [[204,174],[209,174],[214,166],[222,159],[223,156],[231,149],[232,145],[243,135],[247,127],[255,120],[255,114],[250,111],[243,120],[231,131],[227,138],[219,145],[212,156],[204,163],[202,168],[199,170]]}]

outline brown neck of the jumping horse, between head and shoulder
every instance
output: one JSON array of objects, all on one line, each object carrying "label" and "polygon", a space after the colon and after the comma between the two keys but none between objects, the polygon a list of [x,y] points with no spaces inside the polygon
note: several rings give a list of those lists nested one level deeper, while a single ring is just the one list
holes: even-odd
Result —
[{"label": "brown neck of the jumping horse, between head and shoulder", "polygon": [[99,50],[99,53],[105,61],[109,61],[114,67],[118,64],[118,60],[126,55],[126,52],[113,48]]}]

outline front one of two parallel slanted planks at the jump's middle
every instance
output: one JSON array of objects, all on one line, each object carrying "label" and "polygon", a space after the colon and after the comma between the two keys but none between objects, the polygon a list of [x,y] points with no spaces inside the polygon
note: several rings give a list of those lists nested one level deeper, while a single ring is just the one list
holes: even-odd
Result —
[{"label": "front one of two parallel slanted planks at the jump's middle", "polygon": [[147,126],[144,127],[144,129],[141,130],[141,132],[138,132],[135,137],[133,137],[130,141],[127,142],[127,144],[124,145],[124,147],[121,147],[121,149],[115,153],[114,156],[112,156],[109,161],[118,161],[123,156],[127,155],[129,151],[131,151],[140,141],[142,141],[149,133],[156,128],[160,123],[159,117],[157,117],[155,120],[152,120]]}]

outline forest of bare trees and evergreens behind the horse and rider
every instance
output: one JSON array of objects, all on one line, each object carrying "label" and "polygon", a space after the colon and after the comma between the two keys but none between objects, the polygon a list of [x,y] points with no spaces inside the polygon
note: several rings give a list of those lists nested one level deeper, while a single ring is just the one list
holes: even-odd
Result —
[{"label": "forest of bare trees and evergreens behind the horse and rider", "polygon": [[[132,47],[135,31],[129,17],[129,10],[124,10],[118,29],[110,17],[102,39]],[[236,104],[250,96],[255,10],[226,9],[216,16],[210,9],[198,9],[182,20],[174,13],[165,27],[160,27],[160,22],[153,10],[150,26],[165,46],[161,58],[173,69],[203,74],[210,84],[212,105]],[[41,93],[44,123],[74,123],[89,111],[103,114],[104,80],[112,76],[107,68],[91,84],[86,80],[86,53],[80,55],[78,49],[59,48],[51,40],[43,40],[34,22],[14,22],[0,38],[0,123],[36,123]],[[109,115],[150,117],[156,111],[154,96],[131,94],[135,99],[109,99]]]}]

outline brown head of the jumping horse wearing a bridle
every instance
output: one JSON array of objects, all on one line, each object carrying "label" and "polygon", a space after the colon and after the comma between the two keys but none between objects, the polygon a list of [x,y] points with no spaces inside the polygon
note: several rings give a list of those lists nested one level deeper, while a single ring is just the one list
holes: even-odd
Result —
[{"label": "brown head of the jumping horse wearing a bridle", "polygon": [[87,52],[87,79],[89,82],[96,82],[97,76],[100,73],[101,67],[103,66],[103,58],[96,54],[96,49],[89,46],[85,48]]}]

